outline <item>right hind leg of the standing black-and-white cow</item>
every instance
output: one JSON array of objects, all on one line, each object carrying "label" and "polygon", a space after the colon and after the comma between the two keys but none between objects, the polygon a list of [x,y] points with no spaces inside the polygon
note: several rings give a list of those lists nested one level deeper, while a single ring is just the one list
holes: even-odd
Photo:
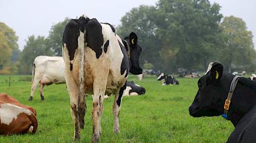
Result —
[{"label": "right hind leg of the standing black-and-white cow", "polygon": [[[99,82],[97,82],[99,81]],[[93,84],[93,138],[92,142],[98,142],[101,134],[101,116],[103,113],[103,99],[106,91],[106,81],[97,80]]]}]

